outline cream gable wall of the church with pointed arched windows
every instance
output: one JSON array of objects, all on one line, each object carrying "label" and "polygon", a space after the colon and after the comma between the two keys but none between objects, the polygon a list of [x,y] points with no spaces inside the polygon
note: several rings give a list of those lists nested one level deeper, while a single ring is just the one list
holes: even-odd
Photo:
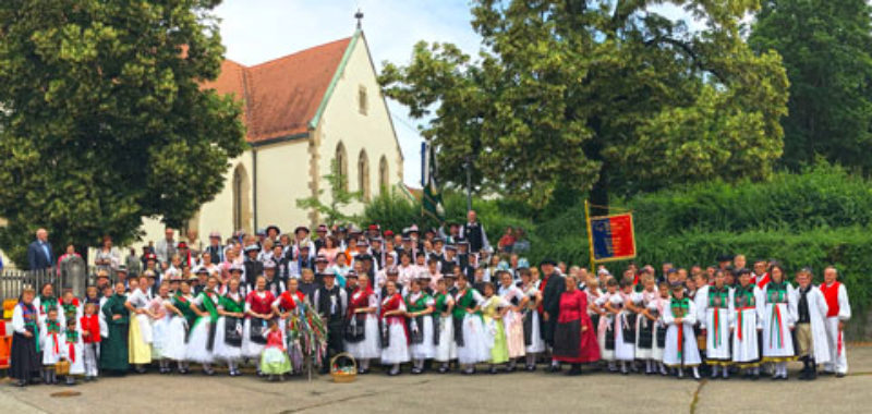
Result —
[{"label": "cream gable wall of the church with pointed arched windows", "polygon": [[[366,114],[361,113],[359,94],[366,90]],[[330,163],[341,142],[348,157],[348,183],[350,191],[360,191],[358,183],[358,159],[362,149],[366,150],[370,166],[371,196],[380,192],[379,160],[388,161],[391,185],[402,182],[402,153],[397,143],[390,114],[376,82],[376,73],[370,60],[366,41],[360,35],[351,51],[334,93],[317,125],[317,170],[318,178],[330,173]],[[329,196],[328,184],[318,181],[318,186]],[[326,197],[325,197],[326,198]],[[326,202],[326,199],[325,199]],[[350,206],[348,212],[361,212],[363,204]]]}]

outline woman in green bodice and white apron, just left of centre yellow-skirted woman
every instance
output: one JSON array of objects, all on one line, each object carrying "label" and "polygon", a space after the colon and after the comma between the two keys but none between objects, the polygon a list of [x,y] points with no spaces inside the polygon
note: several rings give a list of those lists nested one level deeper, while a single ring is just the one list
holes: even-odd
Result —
[{"label": "woman in green bodice and white apron, just left of centre yellow-skirted woman", "polygon": [[457,277],[455,294],[455,341],[457,358],[464,375],[475,374],[475,364],[491,360],[487,338],[482,322],[484,297],[469,285],[463,273]]}]

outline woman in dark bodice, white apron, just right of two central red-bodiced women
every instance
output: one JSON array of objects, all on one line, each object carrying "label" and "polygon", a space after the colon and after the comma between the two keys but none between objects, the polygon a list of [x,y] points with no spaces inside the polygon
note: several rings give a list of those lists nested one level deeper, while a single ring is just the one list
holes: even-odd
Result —
[{"label": "woman in dark bodice, white apron, just right of two central red-bodiced women", "polygon": [[433,297],[424,291],[429,284],[426,279],[412,282],[410,292],[405,296],[405,317],[409,320],[410,356],[412,357],[412,374],[424,373],[424,361],[436,353],[433,346]]}]

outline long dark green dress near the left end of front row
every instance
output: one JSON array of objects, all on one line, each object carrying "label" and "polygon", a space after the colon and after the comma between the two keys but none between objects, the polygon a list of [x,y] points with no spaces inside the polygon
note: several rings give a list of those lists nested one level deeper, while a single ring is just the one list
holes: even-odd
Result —
[{"label": "long dark green dress near the left end of front row", "polygon": [[[130,369],[128,354],[128,331],[130,328],[130,312],[124,307],[128,296],[113,294],[102,306],[109,337],[100,341],[100,369],[126,373]],[[112,316],[121,315],[113,320]]]}]

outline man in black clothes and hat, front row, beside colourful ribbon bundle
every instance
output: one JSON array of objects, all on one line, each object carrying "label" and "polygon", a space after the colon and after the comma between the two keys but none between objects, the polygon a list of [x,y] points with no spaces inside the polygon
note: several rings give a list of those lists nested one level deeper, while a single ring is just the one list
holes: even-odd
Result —
[{"label": "man in black clothes and hat, front row, beside colourful ribbon bundle", "polygon": [[[344,350],[342,338],[346,332],[348,294],[336,284],[336,275],[323,272],[318,276],[324,280],[324,285],[312,294],[312,303],[327,326],[327,357],[324,360],[327,362]],[[329,363],[322,365],[322,374],[327,374],[329,370]]]}]

